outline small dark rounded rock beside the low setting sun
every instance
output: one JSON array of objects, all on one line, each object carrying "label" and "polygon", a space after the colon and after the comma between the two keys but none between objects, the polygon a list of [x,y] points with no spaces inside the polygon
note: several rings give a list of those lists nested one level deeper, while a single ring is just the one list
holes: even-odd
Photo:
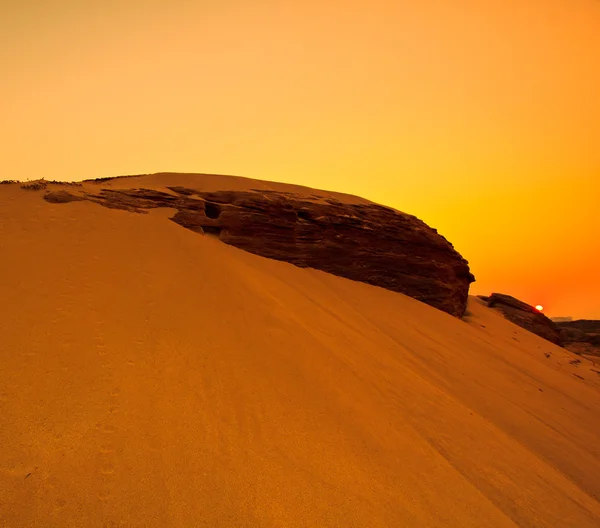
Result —
[{"label": "small dark rounded rock beside the low setting sun", "polygon": [[498,309],[509,321],[562,346],[558,326],[533,306],[503,293],[492,293],[487,298],[487,303],[490,308]]}]

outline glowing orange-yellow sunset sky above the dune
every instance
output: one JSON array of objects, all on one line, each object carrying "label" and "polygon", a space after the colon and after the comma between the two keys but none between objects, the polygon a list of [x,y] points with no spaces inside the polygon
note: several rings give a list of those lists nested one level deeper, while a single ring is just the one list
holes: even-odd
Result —
[{"label": "glowing orange-yellow sunset sky above the dune", "polygon": [[0,179],[357,194],[600,319],[600,0],[0,0],[0,67]]}]

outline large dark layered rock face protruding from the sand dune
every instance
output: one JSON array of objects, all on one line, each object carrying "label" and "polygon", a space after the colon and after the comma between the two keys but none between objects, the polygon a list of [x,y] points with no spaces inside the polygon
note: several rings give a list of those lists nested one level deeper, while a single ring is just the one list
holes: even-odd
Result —
[{"label": "large dark layered rock face protruding from the sand dune", "polygon": [[137,213],[174,208],[177,224],[251,253],[401,292],[457,317],[465,311],[474,281],[467,261],[412,215],[319,195],[169,189],[173,194],[101,189],[82,197]]}]

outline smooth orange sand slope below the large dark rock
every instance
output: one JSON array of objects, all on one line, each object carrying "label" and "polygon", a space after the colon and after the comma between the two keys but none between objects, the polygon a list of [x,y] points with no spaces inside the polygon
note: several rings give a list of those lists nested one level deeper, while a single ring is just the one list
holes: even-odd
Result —
[{"label": "smooth orange sand slope below the large dark rock", "polygon": [[585,360],[168,215],[0,186],[0,526],[600,525]]}]

